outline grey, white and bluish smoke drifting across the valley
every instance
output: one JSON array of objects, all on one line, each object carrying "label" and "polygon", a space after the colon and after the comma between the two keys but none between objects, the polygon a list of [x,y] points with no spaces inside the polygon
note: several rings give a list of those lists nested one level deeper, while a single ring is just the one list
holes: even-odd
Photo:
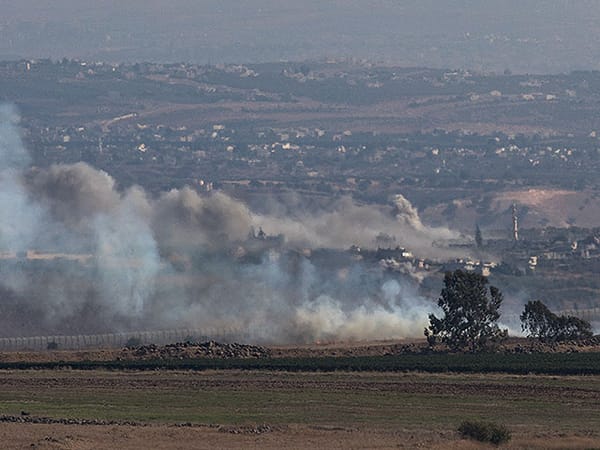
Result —
[{"label": "grey, white and bluish smoke drifting across the valley", "polygon": [[[422,224],[402,196],[388,210],[344,198],[327,212],[257,214],[219,192],[120,191],[84,163],[30,168],[6,106],[0,207],[7,336],[177,327],[260,342],[420,336],[431,302],[417,283],[339,249],[373,247],[385,233],[432,257],[431,242],[452,236]],[[249,238],[259,227],[284,237]]]}]

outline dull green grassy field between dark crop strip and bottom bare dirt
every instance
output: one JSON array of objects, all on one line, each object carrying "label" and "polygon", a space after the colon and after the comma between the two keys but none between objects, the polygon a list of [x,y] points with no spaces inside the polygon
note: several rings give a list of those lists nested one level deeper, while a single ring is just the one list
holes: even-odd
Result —
[{"label": "dull green grassy field between dark crop strip and bottom bare dirt", "polygon": [[519,430],[598,433],[600,377],[6,371],[0,414],[221,425],[455,430],[466,418]]}]

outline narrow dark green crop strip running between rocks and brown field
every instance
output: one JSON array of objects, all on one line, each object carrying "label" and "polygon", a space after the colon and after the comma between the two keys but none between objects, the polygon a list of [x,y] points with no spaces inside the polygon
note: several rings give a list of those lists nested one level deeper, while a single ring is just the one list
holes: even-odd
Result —
[{"label": "narrow dark green crop strip running between rocks and brown field", "polygon": [[0,369],[81,370],[271,370],[289,372],[508,373],[600,375],[600,353],[431,353],[394,356],[295,357],[263,359],[170,359],[69,362],[4,362]]}]

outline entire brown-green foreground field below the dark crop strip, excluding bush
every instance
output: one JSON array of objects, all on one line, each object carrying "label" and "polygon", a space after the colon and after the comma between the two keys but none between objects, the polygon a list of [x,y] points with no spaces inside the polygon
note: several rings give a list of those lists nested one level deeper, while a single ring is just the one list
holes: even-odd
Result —
[{"label": "entire brown-green foreground field below the dark crop strip, excluding bush", "polygon": [[480,446],[460,439],[457,426],[485,419],[512,431],[507,448],[600,448],[599,401],[600,377],[3,371],[0,442],[46,449],[467,449]]}]

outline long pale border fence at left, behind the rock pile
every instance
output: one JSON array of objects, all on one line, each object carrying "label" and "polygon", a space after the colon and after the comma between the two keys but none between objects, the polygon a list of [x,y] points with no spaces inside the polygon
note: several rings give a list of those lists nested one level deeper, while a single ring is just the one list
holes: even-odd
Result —
[{"label": "long pale border fence at left, behind the rock pile", "polygon": [[183,328],[161,331],[131,331],[124,333],[79,334],[72,336],[27,336],[0,338],[0,351],[38,350],[84,350],[101,348],[122,348],[126,345],[165,345],[176,342],[205,342],[218,340],[247,342],[250,336],[242,330],[232,328]]}]

